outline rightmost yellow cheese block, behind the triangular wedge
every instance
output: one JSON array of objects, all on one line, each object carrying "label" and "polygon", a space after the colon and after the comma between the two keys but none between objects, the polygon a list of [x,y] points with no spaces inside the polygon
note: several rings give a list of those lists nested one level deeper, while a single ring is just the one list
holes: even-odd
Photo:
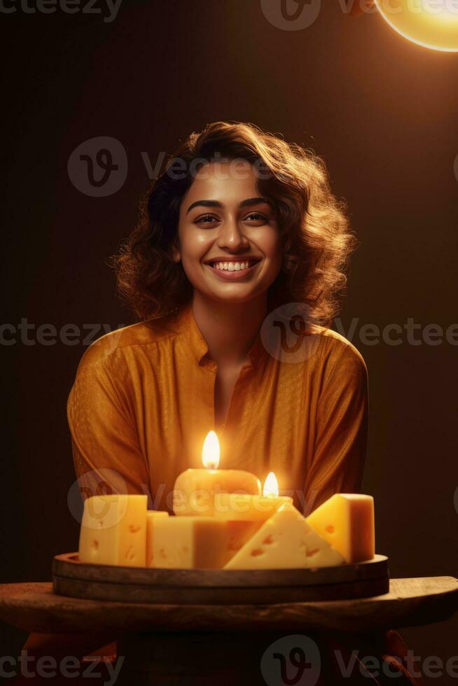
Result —
[{"label": "rightmost yellow cheese block, behind the triangular wedge", "polygon": [[362,562],[375,555],[373,496],[335,493],[306,519],[346,562]]}]

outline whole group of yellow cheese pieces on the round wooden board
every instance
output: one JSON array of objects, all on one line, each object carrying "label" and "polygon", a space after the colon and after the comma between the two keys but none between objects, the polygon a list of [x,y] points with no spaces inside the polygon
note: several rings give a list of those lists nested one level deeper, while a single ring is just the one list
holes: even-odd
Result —
[{"label": "whole group of yellow cheese pieces on the round wooden board", "polygon": [[291,503],[256,520],[169,516],[147,496],[92,496],[84,503],[79,559],[177,569],[315,568],[375,554],[372,496],[336,493],[308,517]]}]

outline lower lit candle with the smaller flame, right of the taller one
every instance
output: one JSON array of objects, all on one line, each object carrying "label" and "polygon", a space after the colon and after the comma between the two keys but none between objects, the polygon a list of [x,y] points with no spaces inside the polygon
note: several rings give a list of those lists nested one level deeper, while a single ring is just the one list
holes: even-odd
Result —
[{"label": "lower lit candle with the smaller flame, right of the taller one", "polygon": [[214,516],[226,521],[265,521],[280,505],[290,503],[290,496],[279,496],[278,482],[274,472],[265,479],[263,495],[247,493],[217,493],[214,497]]}]

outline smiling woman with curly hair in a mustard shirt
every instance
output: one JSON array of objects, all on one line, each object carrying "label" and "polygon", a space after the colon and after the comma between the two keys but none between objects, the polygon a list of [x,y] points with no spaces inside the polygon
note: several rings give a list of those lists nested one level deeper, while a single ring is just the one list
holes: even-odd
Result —
[{"label": "smiling woman with curly hair in a mustard shirt", "polygon": [[83,497],[172,512],[213,428],[222,468],[274,471],[305,513],[358,492],[367,370],[327,328],[355,243],[312,153],[242,123],[191,134],[113,260],[140,321],[92,344],[71,389]]}]

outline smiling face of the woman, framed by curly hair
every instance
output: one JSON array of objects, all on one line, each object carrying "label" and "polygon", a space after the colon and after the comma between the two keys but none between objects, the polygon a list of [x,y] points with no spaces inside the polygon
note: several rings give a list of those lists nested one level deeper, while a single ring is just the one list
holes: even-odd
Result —
[{"label": "smiling face of the woman, framed by curly hair", "polygon": [[243,302],[266,291],[282,265],[275,208],[256,190],[249,162],[212,162],[195,175],[172,251],[195,290]]}]

